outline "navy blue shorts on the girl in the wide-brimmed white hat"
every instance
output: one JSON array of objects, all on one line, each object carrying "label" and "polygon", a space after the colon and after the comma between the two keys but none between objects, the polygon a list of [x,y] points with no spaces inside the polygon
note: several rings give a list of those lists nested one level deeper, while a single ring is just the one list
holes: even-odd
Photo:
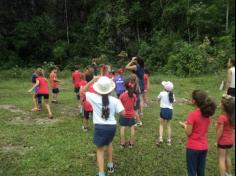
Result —
[{"label": "navy blue shorts on the girl in the wide-brimmed white hat", "polygon": [[116,134],[116,125],[95,125],[93,143],[97,147],[107,146],[112,143]]}]

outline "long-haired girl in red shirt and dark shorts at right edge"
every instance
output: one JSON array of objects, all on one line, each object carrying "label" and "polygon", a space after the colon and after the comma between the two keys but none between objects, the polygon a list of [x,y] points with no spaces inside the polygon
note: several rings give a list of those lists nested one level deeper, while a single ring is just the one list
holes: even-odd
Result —
[{"label": "long-haired girl in red shirt and dark shorts at right edge", "polygon": [[232,176],[230,149],[234,144],[235,129],[235,99],[224,95],[221,100],[223,114],[218,118],[216,133],[219,151],[220,176]]}]

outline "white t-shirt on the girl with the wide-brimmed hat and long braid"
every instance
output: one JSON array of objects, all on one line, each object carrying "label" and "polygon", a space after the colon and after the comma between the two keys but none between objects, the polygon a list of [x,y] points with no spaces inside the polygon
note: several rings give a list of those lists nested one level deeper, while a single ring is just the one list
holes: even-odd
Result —
[{"label": "white t-shirt on the girl with the wide-brimmed hat and long braid", "polygon": [[102,118],[102,96],[86,92],[86,100],[93,107],[93,123],[100,125],[116,125],[117,121],[115,119],[116,113],[121,113],[124,111],[124,106],[121,101],[115,97],[109,96],[109,108],[110,108],[110,117],[105,120]]}]

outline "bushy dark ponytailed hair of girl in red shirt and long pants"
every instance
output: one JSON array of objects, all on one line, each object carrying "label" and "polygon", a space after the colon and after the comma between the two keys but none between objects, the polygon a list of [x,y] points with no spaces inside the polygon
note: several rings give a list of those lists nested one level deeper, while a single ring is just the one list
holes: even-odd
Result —
[{"label": "bushy dark ponytailed hair of girl in red shirt and long pants", "polygon": [[202,90],[195,90],[192,93],[192,99],[200,108],[204,117],[209,118],[215,114],[217,108],[216,103],[208,96],[206,92]]}]

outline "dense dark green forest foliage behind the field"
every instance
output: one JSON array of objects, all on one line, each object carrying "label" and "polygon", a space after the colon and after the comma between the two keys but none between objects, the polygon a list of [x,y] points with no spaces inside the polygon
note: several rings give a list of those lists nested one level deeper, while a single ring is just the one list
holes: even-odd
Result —
[{"label": "dense dark green forest foliage behind the field", "polygon": [[153,71],[214,72],[234,55],[234,21],[234,0],[0,0],[0,67],[122,63],[125,51]]}]

